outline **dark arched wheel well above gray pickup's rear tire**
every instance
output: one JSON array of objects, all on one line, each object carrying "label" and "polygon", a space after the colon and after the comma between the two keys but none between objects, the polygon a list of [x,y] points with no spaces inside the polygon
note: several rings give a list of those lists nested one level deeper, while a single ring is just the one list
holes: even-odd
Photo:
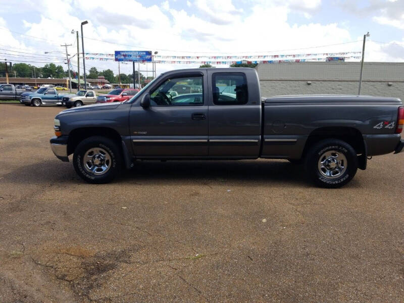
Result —
[{"label": "dark arched wheel well above gray pickup's rear tire", "polygon": [[362,133],[354,127],[321,127],[312,131],[306,141],[302,157],[314,143],[324,139],[335,138],[352,146],[358,155],[365,153],[365,142]]}]

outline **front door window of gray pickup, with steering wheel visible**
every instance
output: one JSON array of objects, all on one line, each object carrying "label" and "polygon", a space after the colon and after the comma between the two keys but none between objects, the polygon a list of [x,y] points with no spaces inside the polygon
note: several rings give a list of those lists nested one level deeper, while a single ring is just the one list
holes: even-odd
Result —
[{"label": "front door window of gray pickup, with steering wheel visible", "polygon": [[195,106],[204,104],[202,76],[172,78],[150,91],[151,106]]}]

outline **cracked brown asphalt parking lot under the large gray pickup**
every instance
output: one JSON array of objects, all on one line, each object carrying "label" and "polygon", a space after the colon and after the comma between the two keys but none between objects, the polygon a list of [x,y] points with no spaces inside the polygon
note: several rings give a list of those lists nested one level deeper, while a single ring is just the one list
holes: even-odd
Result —
[{"label": "cracked brown asphalt parking lot under the large gray pickup", "polygon": [[404,301],[404,153],[341,189],[269,160],[90,185],[49,148],[60,110],[0,105],[0,302]]}]

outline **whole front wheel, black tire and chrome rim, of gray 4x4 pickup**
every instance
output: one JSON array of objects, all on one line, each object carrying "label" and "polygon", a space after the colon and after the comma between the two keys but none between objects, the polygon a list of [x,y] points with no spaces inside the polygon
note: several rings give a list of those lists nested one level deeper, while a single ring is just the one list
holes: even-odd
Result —
[{"label": "whole front wheel, black tire and chrome rim, of gray 4x4 pickup", "polygon": [[[95,149],[95,153],[88,153],[91,149]],[[88,158],[86,155],[89,155]],[[89,158],[90,156],[93,156],[93,159]],[[106,166],[109,167],[104,173],[101,172],[104,165],[97,168],[96,164],[100,165],[100,163],[93,162],[99,156],[104,156],[105,159],[108,159],[109,156],[110,159],[109,163],[108,161],[104,161]],[[85,162],[84,160],[87,159],[88,161]],[[73,155],[73,166],[77,174],[88,183],[108,183],[119,174],[122,167],[122,157],[119,148],[111,139],[102,136],[93,136],[84,139],[77,145]],[[91,171],[91,168],[94,168],[95,172],[94,170]]]}]

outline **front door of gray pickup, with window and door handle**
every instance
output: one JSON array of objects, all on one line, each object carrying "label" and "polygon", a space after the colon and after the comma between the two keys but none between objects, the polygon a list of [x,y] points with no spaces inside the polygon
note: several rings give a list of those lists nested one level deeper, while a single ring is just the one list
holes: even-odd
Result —
[{"label": "front door of gray pickup, with window and door handle", "polygon": [[[187,85],[189,92],[175,90]],[[150,87],[150,107],[137,100],[130,111],[133,150],[139,158],[208,156],[208,93],[206,76],[183,73]]]}]

